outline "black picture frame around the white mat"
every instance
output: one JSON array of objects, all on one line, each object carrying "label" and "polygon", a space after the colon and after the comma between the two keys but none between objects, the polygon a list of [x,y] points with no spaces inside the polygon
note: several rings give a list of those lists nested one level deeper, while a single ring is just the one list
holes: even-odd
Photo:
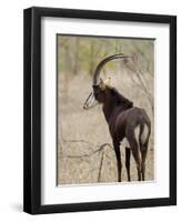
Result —
[{"label": "black picture frame around the white mat", "polygon": [[[168,23],[170,26],[170,196],[41,204],[41,18]],[[177,17],[33,7],[23,12],[23,211],[31,214],[177,204]]]}]

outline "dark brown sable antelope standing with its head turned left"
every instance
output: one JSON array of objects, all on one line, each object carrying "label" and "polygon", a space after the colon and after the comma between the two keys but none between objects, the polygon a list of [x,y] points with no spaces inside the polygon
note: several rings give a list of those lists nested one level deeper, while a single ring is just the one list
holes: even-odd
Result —
[{"label": "dark brown sable antelope standing with its head turned left", "polygon": [[[113,148],[117,157],[118,181],[121,182],[121,151],[120,144],[123,139],[127,139],[129,147],[125,147],[125,168],[128,181],[130,176],[130,154],[132,152],[137,170],[138,180],[144,181],[145,157],[148,152],[149,138],[151,133],[151,121],[144,109],[133,107],[133,102],[123,97],[118,90],[110,84],[110,79],[103,81],[100,78],[100,72],[103,65],[113,59],[127,59],[123,53],[113,54],[103,59],[94,70],[92,88],[84,102],[83,109],[88,110],[102,103],[102,110],[109,125],[112,138]],[[131,152],[130,152],[131,150]]]}]

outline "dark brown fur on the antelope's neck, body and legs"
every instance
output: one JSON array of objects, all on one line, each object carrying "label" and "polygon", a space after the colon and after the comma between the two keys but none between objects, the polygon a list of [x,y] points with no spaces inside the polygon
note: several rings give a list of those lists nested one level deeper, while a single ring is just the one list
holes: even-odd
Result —
[{"label": "dark brown fur on the antelope's neck, body and legs", "polygon": [[[148,151],[148,143],[151,132],[151,122],[143,109],[133,107],[133,102],[129,101],[117,89],[105,87],[102,89],[99,84],[93,85],[94,98],[102,103],[102,110],[109,125],[110,134],[113,142],[113,148],[117,155],[118,164],[118,181],[121,181],[121,152],[120,143],[127,138],[129,141],[133,158],[138,169],[138,180],[144,180],[145,157]],[[135,139],[134,130],[140,127],[139,141]],[[149,132],[145,141],[141,141],[144,125],[148,127]],[[141,157],[140,157],[141,153]],[[128,173],[128,181],[130,176],[130,149],[125,148],[125,167]]]}]

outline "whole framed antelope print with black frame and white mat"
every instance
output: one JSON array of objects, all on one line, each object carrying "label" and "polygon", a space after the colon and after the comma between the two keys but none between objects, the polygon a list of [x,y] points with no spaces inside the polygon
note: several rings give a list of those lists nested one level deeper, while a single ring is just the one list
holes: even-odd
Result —
[{"label": "whole framed antelope print with black frame and white mat", "polygon": [[177,204],[177,18],[24,10],[31,214]]}]

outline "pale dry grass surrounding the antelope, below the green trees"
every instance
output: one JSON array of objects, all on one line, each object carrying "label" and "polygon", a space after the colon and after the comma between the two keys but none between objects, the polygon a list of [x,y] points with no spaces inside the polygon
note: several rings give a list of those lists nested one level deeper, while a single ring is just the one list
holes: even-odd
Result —
[{"label": "pale dry grass surrounding the antelope, below the green trees", "polygon": [[[143,107],[152,120],[149,101],[140,89],[129,78],[125,70],[112,74],[114,85],[134,105]],[[104,74],[105,75],[105,74]],[[108,124],[101,105],[89,111],[82,109],[91,91],[91,78],[86,73],[68,78],[59,73],[58,88],[58,183],[80,184],[98,182],[115,182],[117,164],[113,149],[105,145],[100,152],[94,152],[103,143],[111,143]],[[149,87],[153,91],[151,79]],[[122,181],[127,181],[124,168],[124,148],[121,145]],[[101,172],[100,172],[101,167]],[[135,181],[137,169],[131,157],[131,179]],[[147,157],[145,180],[154,179],[153,131]]]}]

